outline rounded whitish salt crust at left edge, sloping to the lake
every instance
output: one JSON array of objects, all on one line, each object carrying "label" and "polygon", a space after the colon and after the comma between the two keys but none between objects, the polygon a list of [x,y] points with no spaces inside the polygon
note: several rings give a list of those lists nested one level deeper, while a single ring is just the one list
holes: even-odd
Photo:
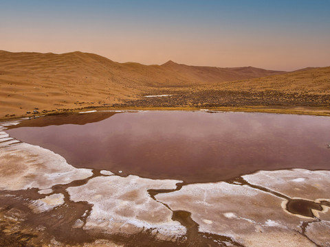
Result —
[{"label": "rounded whitish salt crust at left edge, sloping to the lake", "polygon": [[93,174],[91,169],[76,169],[62,156],[28,143],[5,146],[0,160],[1,190],[49,189]]}]

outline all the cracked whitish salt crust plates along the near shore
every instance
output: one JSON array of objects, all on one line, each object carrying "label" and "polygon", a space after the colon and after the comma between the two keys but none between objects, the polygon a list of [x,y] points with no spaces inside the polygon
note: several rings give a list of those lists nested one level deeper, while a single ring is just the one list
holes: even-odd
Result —
[{"label": "all the cracked whitish salt crust plates along the near shore", "polygon": [[[3,176],[0,189],[36,187],[41,189],[41,194],[52,193],[52,189],[49,189],[52,185],[91,176],[91,170],[76,169],[50,150],[26,143],[10,146],[7,138],[5,132],[0,132],[0,141],[5,139],[6,143],[2,146],[4,152],[1,150],[0,153],[1,161],[9,160],[4,166],[9,166],[13,160],[19,161],[17,168],[22,174]],[[34,157],[27,158],[31,154]],[[31,168],[34,165],[41,167]],[[25,178],[32,174],[36,174],[36,180]],[[186,228],[171,219],[171,210],[185,210],[192,213],[192,220],[199,224],[199,231],[230,236],[244,246],[258,246],[258,243],[261,246],[315,246],[314,243],[328,246],[330,242],[329,235],[325,234],[330,229],[327,220],[309,223],[306,235],[296,235],[296,231],[301,231],[301,219],[278,207],[283,198],[272,194],[272,191],[278,191],[291,198],[304,196],[303,198],[316,202],[320,201],[320,198],[329,198],[328,171],[292,169],[260,171],[243,176],[248,183],[272,190],[267,192],[248,185],[224,182],[184,185],[178,191],[155,196],[170,209],[153,200],[147,190],[175,189],[175,184],[180,181],[151,180],[138,176],[122,178],[106,170],[100,171],[100,174],[106,176],[91,178],[86,185],[67,189],[72,200],[86,200],[93,204],[85,226],[77,220],[74,227],[100,231],[106,229],[109,233],[138,233],[141,229],[150,228],[157,229],[164,236],[178,237],[186,234]],[[16,180],[16,183],[10,185],[7,180]],[[63,194],[54,193],[35,200],[30,207],[33,207],[36,213],[50,211],[63,204],[63,198]],[[323,217],[326,215],[326,219],[328,214],[325,213],[328,209],[329,207],[325,207],[320,213]],[[278,243],[280,240],[281,244]]]}]

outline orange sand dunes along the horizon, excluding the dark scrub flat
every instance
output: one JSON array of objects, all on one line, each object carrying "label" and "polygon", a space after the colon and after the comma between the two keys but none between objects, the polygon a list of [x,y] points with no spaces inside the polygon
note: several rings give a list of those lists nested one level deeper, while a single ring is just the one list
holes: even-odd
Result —
[{"label": "orange sand dunes along the horizon, excluding the dark scrub flat", "polygon": [[[254,67],[119,63],[80,51],[67,54],[0,51],[0,118],[40,110],[111,106],[164,89],[284,90],[329,93],[329,68],[294,73]],[[263,79],[253,79],[268,76]],[[202,85],[202,86],[200,86]],[[289,85],[289,86],[288,86]],[[290,86],[291,85],[291,86]],[[14,116],[13,116],[14,115]]]}]

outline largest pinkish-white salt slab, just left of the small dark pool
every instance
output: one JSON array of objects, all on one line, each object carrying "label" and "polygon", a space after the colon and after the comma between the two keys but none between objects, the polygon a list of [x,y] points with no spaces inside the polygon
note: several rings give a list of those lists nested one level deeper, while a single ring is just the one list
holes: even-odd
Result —
[{"label": "largest pinkish-white salt slab, just left of the small dark pool", "polygon": [[281,208],[282,198],[247,185],[193,184],[155,198],[172,210],[191,212],[199,231],[232,237],[243,246],[313,246],[296,234],[301,219]]}]

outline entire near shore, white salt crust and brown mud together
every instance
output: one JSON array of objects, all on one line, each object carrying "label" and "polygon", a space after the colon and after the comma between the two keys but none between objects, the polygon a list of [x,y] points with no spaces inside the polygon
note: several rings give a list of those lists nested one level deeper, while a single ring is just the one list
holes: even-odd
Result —
[{"label": "entire near shore, white salt crust and brown mud together", "polygon": [[[7,162],[3,167],[12,165],[10,154],[15,153],[18,157],[15,163],[17,169],[22,171],[20,174],[27,175],[14,176],[19,183],[12,183],[10,174],[4,177],[10,181],[3,183],[7,188],[0,191],[0,201],[7,206],[0,214],[0,220],[7,227],[6,233],[0,231],[5,243],[21,241],[22,244],[33,245],[41,240],[45,243],[56,240],[58,246],[85,246],[86,243],[86,246],[99,246],[102,241],[102,244],[111,246],[152,244],[161,247],[213,243],[214,239],[217,243],[230,241],[236,246],[252,246],[249,243],[257,242],[261,237],[265,238],[265,245],[277,244],[278,239],[290,246],[314,246],[315,242],[321,246],[327,241],[315,237],[326,236],[329,229],[325,223],[325,213],[330,209],[330,200],[320,199],[328,198],[325,189],[329,181],[325,179],[329,177],[327,170],[260,170],[227,182],[194,183],[180,187],[178,180],[121,177],[107,170],[84,169],[84,172],[67,163],[63,156],[27,143],[8,146],[4,150],[3,161]],[[36,156],[39,158],[36,159]],[[36,171],[39,179],[29,176]],[[30,185],[30,180],[33,185]],[[100,187],[100,183],[108,186]],[[113,187],[113,184],[119,186]],[[314,187],[314,184],[321,186]],[[124,191],[121,189],[123,187]],[[298,189],[290,189],[292,187]],[[22,190],[17,193],[17,189]],[[190,198],[189,203],[180,200],[182,197]],[[143,208],[155,213],[156,217],[148,215],[155,221],[153,225],[145,220],[144,211],[138,206],[141,201]],[[126,203],[126,206],[113,207],[113,202],[115,205]],[[292,205],[294,208],[298,203],[307,207],[309,204],[322,207],[313,208],[308,214],[287,207]],[[111,210],[113,208],[118,211]],[[125,216],[125,212],[131,210],[135,216]],[[256,215],[255,211],[259,214]],[[12,217],[13,212],[16,218]],[[68,214],[72,216],[61,222],[64,230],[58,231],[58,218],[54,215],[65,217]],[[25,215],[32,215],[34,220]],[[316,222],[314,217],[320,220]],[[128,218],[133,220],[127,221]],[[127,222],[126,227],[122,227],[123,222]],[[303,228],[301,222],[307,226]],[[104,224],[112,228],[105,228]],[[148,230],[151,226],[157,229],[156,234]],[[318,231],[317,227],[322,231]],[[18,236],[17,228],[20,231]],[[261,231],[256,233],[255,228]],[[297,231],[300,234],[297,235]],[[35,237],[19,240],[23,234]],[[212,239],[208,237],[210,235]],[[186,237],[185,241],[183,237]],[[138,244],[136,239],[139,239]]]}]

